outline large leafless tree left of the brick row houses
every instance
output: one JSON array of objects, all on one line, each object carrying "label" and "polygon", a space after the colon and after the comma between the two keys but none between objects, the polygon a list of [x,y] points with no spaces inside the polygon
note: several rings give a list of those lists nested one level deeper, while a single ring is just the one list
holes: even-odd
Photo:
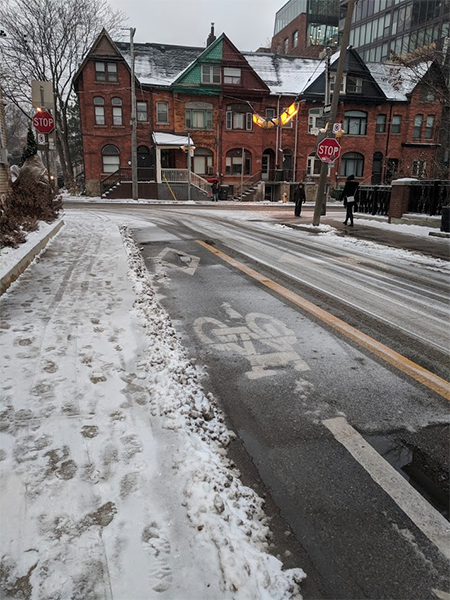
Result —
[{"label": "large leafless tree left of the brick row houses", "polygon": [[103,29],[115,35],[125,16],[105,0],[2,0],[0,84],[4,96],[31,117],[31,81],[51,81],[57,150],[64,179],[73,186],[69,143],[72,78]]}]

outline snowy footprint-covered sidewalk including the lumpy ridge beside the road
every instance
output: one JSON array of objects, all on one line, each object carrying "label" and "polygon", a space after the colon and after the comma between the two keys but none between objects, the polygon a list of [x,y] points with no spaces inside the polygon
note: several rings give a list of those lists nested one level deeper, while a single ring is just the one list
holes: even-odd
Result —
[{"label": "snowy footprint-covered sidewalk including the lumpy ridge beside the road", "polygon": [[128,230],[64,220],[0,296],[0,597],[299,598]]}]

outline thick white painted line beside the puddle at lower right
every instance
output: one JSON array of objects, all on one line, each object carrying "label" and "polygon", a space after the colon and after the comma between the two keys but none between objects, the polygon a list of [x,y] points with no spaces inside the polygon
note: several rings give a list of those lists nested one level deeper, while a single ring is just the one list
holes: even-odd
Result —
[{"label": "thick white painted line beside the puddle at lower right", "polygon": [[450,560],[450,523],[400,473],[366,442],[343,417],[323,421],[372,479],[398,504],[412,522]]}]

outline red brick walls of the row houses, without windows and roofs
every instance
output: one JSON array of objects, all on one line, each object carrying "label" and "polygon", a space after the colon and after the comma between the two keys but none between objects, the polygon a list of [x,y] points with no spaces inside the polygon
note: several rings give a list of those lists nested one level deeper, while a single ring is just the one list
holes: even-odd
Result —
[{"label": "red brick walls of the row houses, without windows and roofs", "polygon": [[[227,38],[224,39],[224,55],[229,53],[229,64],[239,64],[239,57],[234,56],[235,51],[232,44],[228,47]],[[117,81],[98,81],[95,75],[95,61],[113,61],[117,63]],[[234,62],[233,62],[234,61]],[[245,65],[244,65],[245,63]],[[191,130],[191,137],[196,147],[196,155],[201,154],[200,149],[212,153],[212,169],[203,173],[203,177],[218,174],[222,183],[239,186],[242,175],[233,174],[233,160],[239,161],[242,149],[248,158],[246,167],[249,169],[244,173],[245,179],[261,176],[263,166],[263,155],[269,161],[270,172],[265,179],[275,179],[274,169],[276,165],[283,166],[283,154],[291,153],[292,164],[285,169],[283,178],[296,181],[312,179],[314,173],[308,172],[308,156],[315,152],[317,136],[308,133],[309,110],[320,106],[313,104],[312,100],[305,98],[300,102],[298,118],[292,122],[292,127],[283,129],[265,130],[257,127],[251,121],[252,112],[260,115],[266,114],[266,109],[272,108],[275,114],[279,114],[289,106],[293,96],[283,97],[270,94],[267,86],[260,77],[254,73],[244,59],[241,66],[243,71],[243,84],[239,88],[235,86],[224,87],[222,93],[216,95],[205,95],[191,91],[175,91],[173,89],[162,89],[161,87],[136,86],[136,99],[138,102],[147,104],[147,120],[138,120],[137,138],[138,147],[145,146],[151,149],[152,133],[167,132],[177,135],[186,135],[185,107],[186,103],[208,103],[212,107],[213,122],[212,129]],[[105,179],[108,173],[102,169],[102,149],[111,144],[120,151],[120,167],[129,167],[131,159],[131,95],[130,95],[130,70],[120,53],[114,49],[106,38],[91,51],[85,60],[76,78],[81,112],[81,124],[83,135],[85,178],[87,193],[97,195],[100,193],[100,181]],[[104,100],[105,125],[95,123],[94,98],[101,97]],[[113,125],[113,98],[122,101],[122,124]],[[237,98],[237,99],[236,99]],[[169,122],[158,123],[156,119],[157,102],[168,103]],[[236,106],[243,107],[244,128],[227,129],[227,111],[238,110]],[[247,108],[246,108],[247,107]],[[346,174],[342,170],[342,157],[346,160],[347,153],[357,153],[364,160],[364,168],[360,182],[369,183],[374,173],[375,165],[379,163],[381,156],[381,178],[386,176],[387,159],[397,161],[396,175],[412,177],[417,175],[414,169],[424,169],[424,176],[435,176],[434,165],[436,163],[441,107],[438,102],[422,102],[420,90],[417,87],[407,101],[380,101],[365,105],[360,99],[356,103],[343,103],[339,106],[337,121],[344,122],[345,111],[360,111],[367,115],[367,130],[365,135],[344,135],[340,138],[342,146],[341,158],[330,169],[330,182],[342,184]],[[414,137],[414,122],[418,114],[423,115],[422,134],[420,138]],[[248,116],[250,115],[250,116]],[[386,115],[386,129],[384,133],[377,133],[377,117]],[[401,117],[400,132],[392,132],[393,116]],[[425,139],[425,123],[427,117],[434,116],[433,136]],[[242,121],[240,122],[242,126]],[[247,129],[248,128],[248,129]],[[428,131],[429,134],[429,131]],[[278,145],[278,150],[277,150]],[[280,151],[282,150],[282,152]],[[234,151],[234,158],[230,157],[227,165],[227,153]],[[204,153],[204,152],[203,152]],[[378,163],[376,161],[378,154]],[[277,156],[278,154],[278,156]],[[375,161],[374,161],[375,155]],[[171,168],[186,168],[186,154],[180,149],[172,153],[173,164],[163,165]],[[414,162],[416,161],[416,163]],[[417,161],[423,161],[418,163]],[[230,166],[231,165],[231,166]],[[415,165],[415,166],[414,166]],[[228,166],[228,172],[227,172]],[[286,163],[285,163],[286,167]],[[231,172],[230,172],[231,171]]]}]

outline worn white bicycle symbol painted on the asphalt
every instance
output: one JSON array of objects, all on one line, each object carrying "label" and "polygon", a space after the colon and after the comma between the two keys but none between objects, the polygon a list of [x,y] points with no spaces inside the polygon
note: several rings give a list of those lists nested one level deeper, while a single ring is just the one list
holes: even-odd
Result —
[{"label": "worn white bicycle symbol painted on the asphalt", "polygon": [[249,379],[270,377],[277,373],[275,367],[291,364],[296,371],[309,371],[293,346],[297,342],[294,332],[282,321],[262,313],[249,313],[240,317],[242,324],[229,326],[212,317],[199,317],[194,330],[199,339],[218,351],[239,354],[251,366],[246,372]]}]

